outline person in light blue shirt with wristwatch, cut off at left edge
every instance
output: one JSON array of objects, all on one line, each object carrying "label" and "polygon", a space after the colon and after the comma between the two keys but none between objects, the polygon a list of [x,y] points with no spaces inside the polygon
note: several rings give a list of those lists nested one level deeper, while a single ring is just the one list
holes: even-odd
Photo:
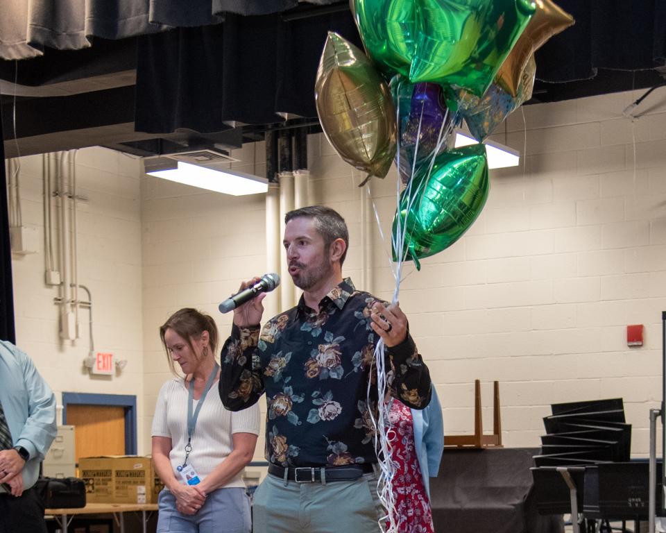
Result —
[{"label": "person in light blue shirt with wristwatch, cut off at left edge", "polygon": [[56,437],[56,397],[26,353],[0,341],[0,532],[44,532],[32,490]]}]

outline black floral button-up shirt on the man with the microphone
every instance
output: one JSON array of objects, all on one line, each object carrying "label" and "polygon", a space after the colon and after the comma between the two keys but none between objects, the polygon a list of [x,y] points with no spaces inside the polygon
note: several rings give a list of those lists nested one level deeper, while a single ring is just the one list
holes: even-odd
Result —
[{"label": "black floral button-up shirt on the man with the microphone", "polygon": [[[377,298],[347,278],[319,304],[300,302],[259,328],[233,326],[221,354],[219,391],[227,409],[266,393],[266,459],[280,466],[377,462],[375,341],[370,308]],[[430,401],[430,375],[409,333],[386,348],[390,394],[415,409]],[[389,366],[390,365],[390,366]]]}]

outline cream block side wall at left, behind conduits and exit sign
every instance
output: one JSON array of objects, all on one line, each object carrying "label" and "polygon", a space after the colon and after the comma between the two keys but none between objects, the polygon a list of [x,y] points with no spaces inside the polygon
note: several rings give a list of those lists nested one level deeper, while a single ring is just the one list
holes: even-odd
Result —
[{"label": "cream block side wall at left, behind conduits and exit sign", "polygon": [[[24,226],[37,228],[39,251],[12,255],[17,345],[30,355],[56,393],[133,394],[144,411],[142,346],[141,204],[142,164],[116,151],[91,148],[76,153],[78,202],[78,282],[92,293],[94,347],[126,359],[121,373],[91,376],[83,366],[89,353],[89,314],[79,312],[77,341],[58,335],[56,287],[44,284],[42,155],[21,158],[20,187]],[[53,204],[55,205],[55,203]],[[53,220],[58,226],[57,210]],[[53,233],[58,250],[57,233]],[[87,300],[85,291],[79,292]],[[137,430],[142,434],[142,420]]]}]

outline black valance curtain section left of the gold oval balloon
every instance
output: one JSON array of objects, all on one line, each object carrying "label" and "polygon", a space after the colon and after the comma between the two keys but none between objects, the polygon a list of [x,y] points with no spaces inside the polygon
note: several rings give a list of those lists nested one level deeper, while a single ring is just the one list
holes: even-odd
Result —
[{"label": "black valance curtain section left of the gold oval balloon", "polygon": [[357,46],[351,13],[285,22],[279,15],[139,37],[137,131],[211,133],[225,121],[271,124],[278,113],[316,117],[314,81],[327,31]]}]

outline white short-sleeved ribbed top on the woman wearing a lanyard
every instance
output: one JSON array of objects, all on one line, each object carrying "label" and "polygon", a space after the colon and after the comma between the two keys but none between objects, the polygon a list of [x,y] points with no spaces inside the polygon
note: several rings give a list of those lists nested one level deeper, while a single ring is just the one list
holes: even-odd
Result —
[{"label": "white short-sleeved ribbed top on the woman wearing a lanyard", "polygon": [[[222,405],[217,388],[216,381],[201,406],[192,437],[192,451],[187,459],[187,464],[194,466],[201,480],[231,453],[233,433],[259,434],[258,403],[239,412],[228,411]],[[197,404],[198,400],[195,400],[192,412]],[[171,439],[169,458],[176,473],[176,467],[185,460],[187,444],[187,387],[182,378],[174,378],[162,385],[155,405],[151,436]],[[180,480],[178,473],[176,479]],[[225,487],[245,487],[240,473]]]}]

